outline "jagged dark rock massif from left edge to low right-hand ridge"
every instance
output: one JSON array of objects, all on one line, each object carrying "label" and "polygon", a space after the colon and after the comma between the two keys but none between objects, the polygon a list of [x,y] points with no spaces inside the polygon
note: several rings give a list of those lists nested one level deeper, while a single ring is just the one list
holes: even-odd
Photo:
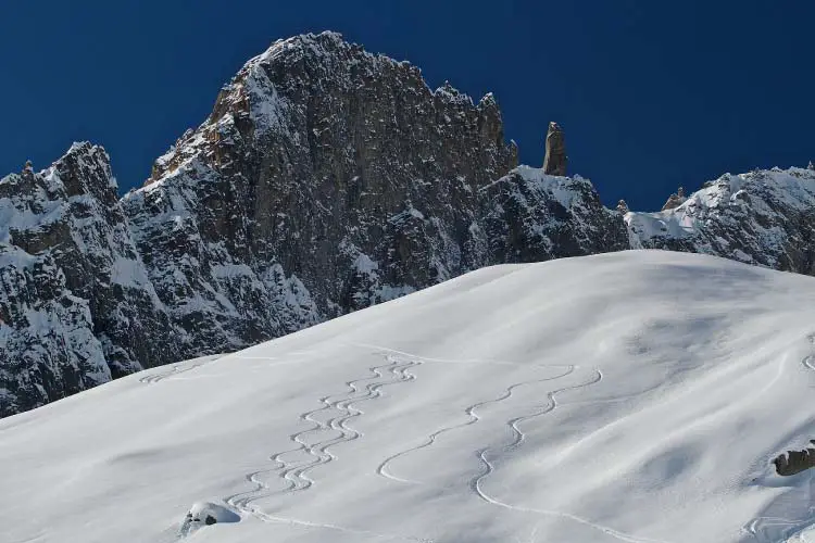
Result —
[{"label": "jagged dark rock massif from left edge to low right-hand ridge", "polygon": [[[516,163],[491,94],[334,33],[277,41],[121,200],[89,143],[0,179],[0,416],[485,265],[627,247],[588,180]],[[39,261],[54,292],[21,278]]]}]

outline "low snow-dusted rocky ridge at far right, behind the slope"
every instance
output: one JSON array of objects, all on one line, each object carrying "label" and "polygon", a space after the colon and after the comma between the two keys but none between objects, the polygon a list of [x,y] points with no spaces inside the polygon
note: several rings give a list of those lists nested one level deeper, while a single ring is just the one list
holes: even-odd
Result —
[{"label": "low snow-dusted rocky ridge at far right, behind the slope", "polygon": [[631,248],[713,254],[815,274],[815,172],[726,174],[673,210],[626,215]]}]

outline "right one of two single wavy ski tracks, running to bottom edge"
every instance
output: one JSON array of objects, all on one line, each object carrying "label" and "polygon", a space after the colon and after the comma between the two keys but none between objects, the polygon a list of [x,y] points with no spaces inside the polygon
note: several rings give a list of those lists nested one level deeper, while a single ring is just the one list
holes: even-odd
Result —
[{"label": "right one of two single wavy ski tracks, running to bottom edge", "polygon": [[[568,390],[578,390],[578,389],[584,389],[586,387],[591,387],[592,384],[599,383],[603,379],[603,372],[600,370],[600,368],[593,368],[593,372],[594,372],[594,376],[590,380],[588,380],[588,381],[586,381],[584,383],[573,384],[573,386],[569,386],[569,387],[563,387],[562,389],[557,389],[557,390],[553,390],[553,391],[549,392],[547,394],[547,397],[548,397],[549,401],[548,401],[546,407],[537,411],[536,413],[532,413],[531,415],[525,415],[525,416],[521,416],[521,417],[516,417],[516,418],[507,420],[506,425],[512,429],[513,433],[515,433],[515,439],[513,440],[512,443],[510,443],[509,445],[506,445],[506,446],[503,447],[504,452],[509,452],[509,451],[512,451],[513,449],[518,447],[524,442],[524,440],[526,439],[526,434],[523,432],[523,430],[521,430],[521,428],[518,428],[517,425],[519,425],[521,422],[524,422],[526,420],[530,420],[532,418],[540,417],[540,416],[546,415],[548,413],[552,413],[555,408],[557,408],[559,404],[557,404],[556,394],[559,394],[561,392],[568,391]],[[598,525],[595,522],[591,522],[591,521],[589,521],[589,520],[587,520],[585,518],[578,517],[577,515],[573,515],[570,513],[557,512],[557,510],[549,510],[549,509],[535,509],[535,508],[529,508],[529,507],[521,507],[521,506],[511,505],[511,504],[501,502],[500,500],[497,500],[497,498],[490,496],[489,494],[487,494],[481,489],[481,482],[484,481],[484,479],[486,479],[487,477],[489,477],[490,475],[492,475],[494,472],[494,470],[496,470],[494,466],[492,465],[492,463],[487,458],[487,453],[489,452],[489,450],[490,450],[490,447],[485,447],[485,449],[481,449],[481,450],[479,450],[479,451],[476,452],[476,454],[478,456],[478,459],[485,466],[485,470],[480,475],[476,476],[471,481],[471,483],[469,483],[471,489],[473,490],[473,492],[475,492],[478,495],[478,497],[480,497],[481,500],[484,500],[488,504],[496,505],[496,506],[499,506],[499,507],[503,507],[503,508],[510,509],[510,510],[516,510],[516,512],[522,512],[522,513],[532,513],[532,514],[537,514],[537,515],[555,516],[555,517],[561,517],[561,518],[569,519],[569,520],[573,520],[573,521],[578,522],[580,525],[584,525],[586,527],[593,528],[594,530],[599,530],[599,531],[605,533],[606,535],[611,535],[611,536],[613,536],[615,539],[618,539],[619,541],[625,541],[627,543],[665,543],[665,542],[659,541],[659,540],[652,540],[652,539],[647,539],[647,538],[637,538],[635,535],[630,535],[628,533],[624,533],[624,532],[620,532],[618,530],[614,530],[613,528],[609,528],[606,526],[602,526],[602,525]]]}]

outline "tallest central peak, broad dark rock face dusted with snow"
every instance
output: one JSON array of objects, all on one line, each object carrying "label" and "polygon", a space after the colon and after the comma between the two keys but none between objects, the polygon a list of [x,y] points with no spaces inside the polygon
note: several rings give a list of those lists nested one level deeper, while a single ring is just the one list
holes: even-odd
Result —
[{"label": "tallest central peak, broad dark rock face dusted with snow", "polygon": [[478,189],[516,162],[492,96],[325,33],[249,61],[123,203],[173,320],[216,352],[469,269]]}]

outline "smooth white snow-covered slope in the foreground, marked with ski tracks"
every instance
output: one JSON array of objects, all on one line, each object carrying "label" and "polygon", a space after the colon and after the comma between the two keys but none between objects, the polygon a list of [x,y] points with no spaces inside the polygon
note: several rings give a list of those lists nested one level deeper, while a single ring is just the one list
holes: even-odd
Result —
[{"label": "smooth white snow-covered slope in the foreground, marked with ski tracks", "polygon": [[485,268],[0,420],[0,541],[170,543],[202,501],[188,541],[786,541],[813,332],[813,278],[711,256]]}]

